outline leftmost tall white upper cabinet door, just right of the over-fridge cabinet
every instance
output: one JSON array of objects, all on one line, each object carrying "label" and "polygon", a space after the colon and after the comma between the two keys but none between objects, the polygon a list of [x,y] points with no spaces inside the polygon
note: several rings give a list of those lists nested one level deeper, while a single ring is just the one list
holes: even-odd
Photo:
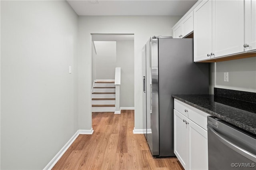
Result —
[{"label": "leftmost tall white upper cabinet door, just right of the over-fridge cabinet", "polygon": [[212,52],[212,1],[204,0],[194,9],[194,61],[210,59]]}]

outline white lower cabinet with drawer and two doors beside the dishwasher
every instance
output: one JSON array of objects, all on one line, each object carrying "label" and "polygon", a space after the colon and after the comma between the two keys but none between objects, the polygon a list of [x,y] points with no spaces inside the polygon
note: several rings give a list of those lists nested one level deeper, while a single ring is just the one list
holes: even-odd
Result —
[{"label": "white lower cabinet with drawer and two doors beside the dishwasher", "polygon": [[[176,99],[175,99],[176,100]],[[185,170],[208,170],[208,141],[207,141],[207,122],[208,114],[200,113],[200,121],[196,124],[189,119],[189,115],[196,113],[196,108],[191,110],[191,106],[184,103],[184,111],[188,117],[177,110],[180,110],[180,101],[174,100],[174,154]],[[178,106],[175,109],[175,106]],[[194,117],[193,117],[194,119]],[[202,128],[205,127],[205,128]]]}]

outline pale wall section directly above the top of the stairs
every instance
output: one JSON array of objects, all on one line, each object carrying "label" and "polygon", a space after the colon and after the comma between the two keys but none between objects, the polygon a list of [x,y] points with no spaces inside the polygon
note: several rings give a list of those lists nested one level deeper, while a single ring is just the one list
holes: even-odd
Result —
[{"label": "pale wall section directly above the top of the stairs", "polygon": [[[95,49],[97,54],[95,53]],[[92,81],[115,79],[116,42],[101,41],[92,43]]]}]

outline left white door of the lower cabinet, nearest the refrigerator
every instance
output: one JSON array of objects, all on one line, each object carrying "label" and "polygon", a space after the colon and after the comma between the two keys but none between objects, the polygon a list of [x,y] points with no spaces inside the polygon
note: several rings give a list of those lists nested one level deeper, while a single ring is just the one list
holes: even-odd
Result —
[{"label": "left white door of the lower cabinet, nearest the refrigerator", "polygon": [[188,126],[183,120],[186,119],[174,109],[174,154],[185,169],[188,166]]}]

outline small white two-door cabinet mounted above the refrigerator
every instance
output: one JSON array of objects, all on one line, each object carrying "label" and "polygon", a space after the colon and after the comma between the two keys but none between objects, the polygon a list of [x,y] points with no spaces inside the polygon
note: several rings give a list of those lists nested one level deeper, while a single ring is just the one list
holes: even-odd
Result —
[{"label": "small white two-door cabinet mounted above the refrigerator", "polygon": [[188,34],[193,32],[193,25],[193,11],[191,11],[173,28],[173,38],[186,37]]}]

